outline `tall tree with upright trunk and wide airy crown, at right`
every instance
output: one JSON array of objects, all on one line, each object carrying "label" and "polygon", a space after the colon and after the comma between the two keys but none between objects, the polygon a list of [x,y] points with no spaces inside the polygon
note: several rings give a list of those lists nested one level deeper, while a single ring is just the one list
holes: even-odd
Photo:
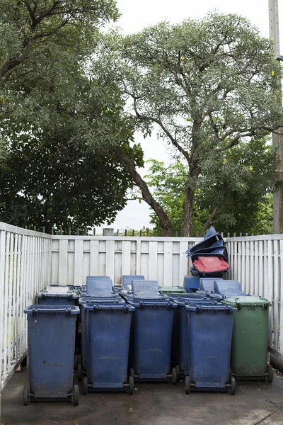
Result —
[{"label": "tall tree with upright trunk and wide airy crown, at right", "polygon": [[157,128],[173,156],[187,164],[187,236],[207,160],[282,126],[281,69],[272,41],[244,18],[212,13],[200,21],[160,23],[113,38],[114,52],[119,43],[122,60],[114,55],[112,69],[128,104],[132,101],[137,125],[144,135]]}]

